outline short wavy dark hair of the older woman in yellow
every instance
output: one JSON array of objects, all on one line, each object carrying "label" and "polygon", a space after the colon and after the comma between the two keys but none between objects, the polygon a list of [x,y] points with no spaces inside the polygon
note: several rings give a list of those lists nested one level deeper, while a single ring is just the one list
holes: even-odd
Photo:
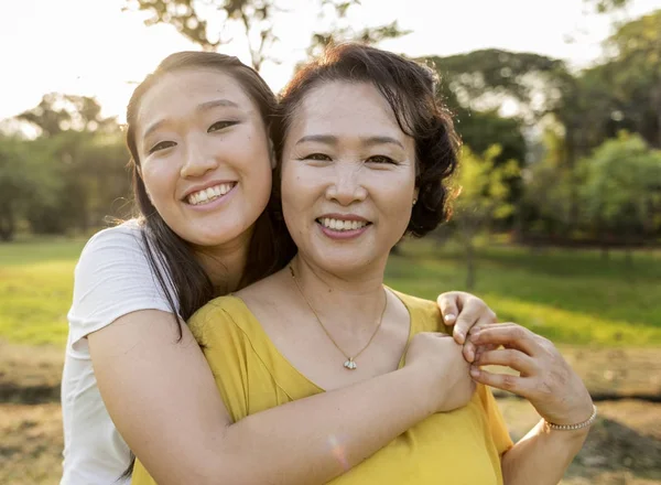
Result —
[{"label": "short wavy dark hair of the older woman in yellow", "polygon": [[[388,100],[401,130],[415,140],[415,185],[420,193],[407,231],[424,236],[447,218],[448,188],[444,180],[457,165],[459,147],[452,116],[436,98],[435,73],[400,55],[362,44],[327,48],[299,71],[282,91],[279,122],[271,125],[279,161],[292,118],[305,95],[335,80],[375,85]],[[274,191],[278,190],[275,182]]]}]

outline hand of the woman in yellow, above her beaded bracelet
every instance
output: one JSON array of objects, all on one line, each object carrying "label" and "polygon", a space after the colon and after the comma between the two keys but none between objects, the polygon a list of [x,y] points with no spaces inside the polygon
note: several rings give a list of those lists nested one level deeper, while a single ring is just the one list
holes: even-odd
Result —
[{"label": "hand of the woman in yellow, above her beaded bracelet", "polygon": [[[474,327],[469,341],[478,347],[503,347],[478,351],[470,368],[475,381],[528,399],[549,422],[575,424],[590,417],[593,402],[583,380],[548,338],[514,323],[500,323]],[[520,375],[479,368],[486,365],[507,366]]]}]

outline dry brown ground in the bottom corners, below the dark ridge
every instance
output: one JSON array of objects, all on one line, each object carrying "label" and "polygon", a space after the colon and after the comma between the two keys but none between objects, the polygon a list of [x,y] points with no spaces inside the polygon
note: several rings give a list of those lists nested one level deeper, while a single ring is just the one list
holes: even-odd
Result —
[{"label": "dry brown ground in the bottom corners, below the dark ridge", "polygon": [[[514,439],[539,417],[525,401],[499,405]],[[563,485],[660,485],[661,405],[602,402],[600,418]],[[0,405],[0,483],[57,483],[62,463],[62,417],[57,403]]]}]

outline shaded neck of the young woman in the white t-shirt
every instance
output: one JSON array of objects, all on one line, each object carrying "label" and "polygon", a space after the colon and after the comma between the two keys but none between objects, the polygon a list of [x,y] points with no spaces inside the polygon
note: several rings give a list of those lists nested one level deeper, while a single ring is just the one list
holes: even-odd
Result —
[{"label": "shaded neck of the young woman in the white t-shirt", "polygon": [[214,285],[217,297],[236,291],[241,283],[252,230],[220,246],[196,246],[195,256]]}]

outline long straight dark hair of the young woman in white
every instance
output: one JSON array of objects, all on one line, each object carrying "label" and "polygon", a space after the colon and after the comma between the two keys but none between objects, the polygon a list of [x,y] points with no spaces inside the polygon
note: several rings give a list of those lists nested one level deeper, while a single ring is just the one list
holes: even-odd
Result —
[{"label": "long straight dark hair of the young woman in white", "polygon": [[[180,52],[166,57],[133,91],[127,108],[127,146],[131,160],[129,166],[133,179],[137,217],[143,225],[142,238],[147,257],[158,283],[167,298],[172,312],[187,320],[213,298],[227,289],[215,289],[189,245],[165,224],[152,205],[140,175],[140,157],[136,142],[137,117],[144,94],[169,73],[184,69],[217,69],[232,76],[259,108],[268,130],[273,119],[275,96],[263,79],[237,57],[210,52]],[[293,256],[293,244],[281,217],[274,213],[274,203],[254,224],[248,249],[248,262],[240,280],[246,287],[281,269]],[[174,289],[178,303],[171,298],[167,288]],[[181,327],[177,325],[181,338]]]}]

